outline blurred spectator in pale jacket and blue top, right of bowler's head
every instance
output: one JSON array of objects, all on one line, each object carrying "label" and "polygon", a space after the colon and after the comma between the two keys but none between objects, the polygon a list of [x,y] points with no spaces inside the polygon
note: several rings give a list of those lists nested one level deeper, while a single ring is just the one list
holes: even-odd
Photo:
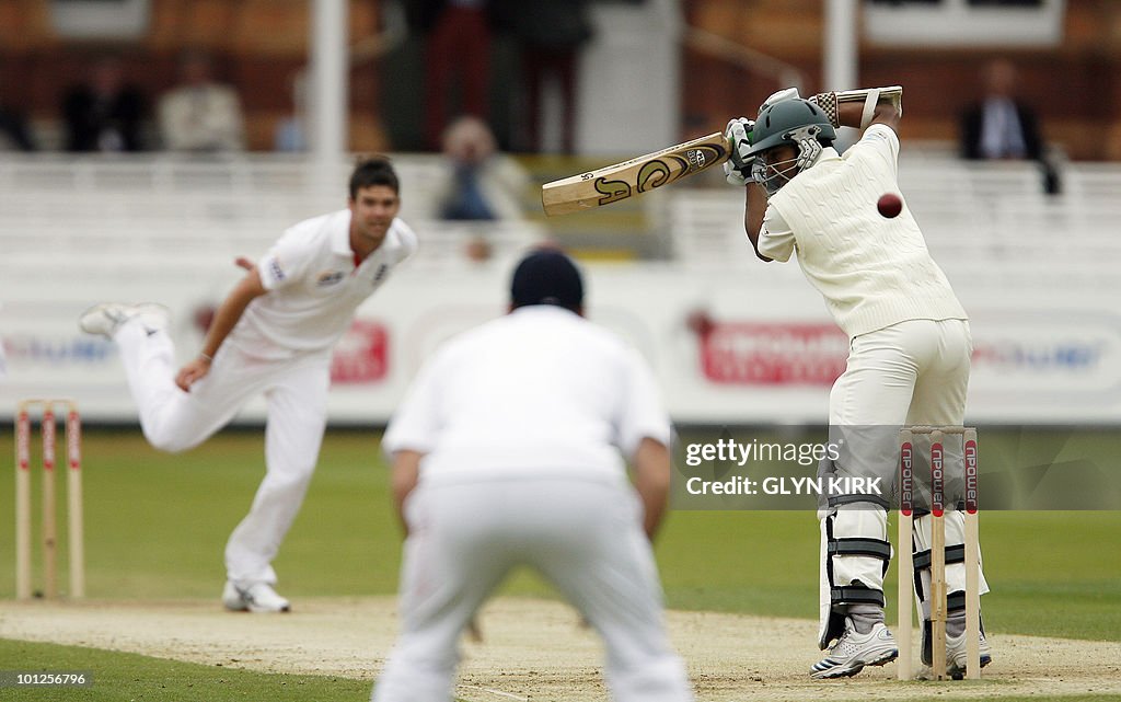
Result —
[{"label": "blurred spectator in pale jacket and blue top, right of bowler's head", "polygon": [[444,133],[447,169],[436,185],[441,219],[460,221],[518,220],[521,193],[529,176],[497,151],[494,135],[481,119],[456,119]]}]

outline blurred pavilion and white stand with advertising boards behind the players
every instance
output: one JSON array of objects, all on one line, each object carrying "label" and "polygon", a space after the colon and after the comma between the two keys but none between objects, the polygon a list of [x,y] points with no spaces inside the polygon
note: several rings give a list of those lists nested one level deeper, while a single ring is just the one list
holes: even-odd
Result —
[{"label": "blurred pavilion and white stand with advertising boards behind the players", "polygon": [[[508,262],[562,246],[590,265],[593,318],[658,370],[675,418],[799,423],[824,416],[845,355],[796,266],[759,265],[742,200],[719,172],[610,207],[546,219],[544,182],[722,130],[778,87],[803,94],[905,85],[900,183],[935,258],[974,317],[971,413],[986,422],[1121,424],[1121,3],[1019,0],[592,0],[576,49],[572,148],[562,86],[546,80],[539,141],[522,40],[488,3],[487,126],[525,174],[520,212],[439,216],[445,157],[425,138],[429,0],[9,0],[0,3],[0,335],[15,398],[76,395],[91,418],[131,421],[112,348],[78,334],[102,299],[173,307],[183,348],[196,318],[287,227],[345,204],[353,153],[386,151],[423,248],[363,311],[336,354],[332,417],[381,422],[424,354],[500,314]],[[172,153],[156,116],[148,150],[63,154],[59,109],[111,57],[156,98],[184,52],[205,52],[237,94],[244,150]],[[1035,160],[964,160],[962,111],[981,68],[1007,59],[1038,117]],[[447,117],[466,109],[462,89]],[[851,136],[850,136],[851,138]],[[568,151],[572,153],[568,153]],[[1062,188],[1048,188],[1058,177]],[[1048,190],[1053,191],[1048,193]],[[870,204],[871,206],[871,204]],[[483,251],[484,253],[480,253]],[[203,311],[202,313],[200,311]],[[256,409],[247,415],[254,421]]]}]

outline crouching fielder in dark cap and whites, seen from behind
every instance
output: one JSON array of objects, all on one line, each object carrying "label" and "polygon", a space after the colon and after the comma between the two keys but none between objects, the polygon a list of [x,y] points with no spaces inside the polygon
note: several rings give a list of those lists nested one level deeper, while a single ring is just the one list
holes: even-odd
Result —
[{"label": "crouching fielder in dark cap and whites, seen from behind", "polygon": [[401,632],[374,702],[448,702],[461,634],[519,565],[603,637],[614,700],[693,699],[650,547],[669,490],[669,419],[638,353],[582,313],[573,262],[529,255],[510,314],[443,347],[390,422]]}]

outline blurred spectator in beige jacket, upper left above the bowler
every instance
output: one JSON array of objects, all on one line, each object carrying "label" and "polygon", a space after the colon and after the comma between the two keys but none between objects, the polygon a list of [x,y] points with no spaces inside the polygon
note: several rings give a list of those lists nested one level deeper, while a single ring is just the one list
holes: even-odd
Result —
[{"label": "blurred spectator in beige jacket, upper left above the bowler", "polygon": [[214,80],[211,57],[188,52],[179,71],[182,84],[159,101],[164,148],[201,154],[242,150],[241,100],[232,87]]}]

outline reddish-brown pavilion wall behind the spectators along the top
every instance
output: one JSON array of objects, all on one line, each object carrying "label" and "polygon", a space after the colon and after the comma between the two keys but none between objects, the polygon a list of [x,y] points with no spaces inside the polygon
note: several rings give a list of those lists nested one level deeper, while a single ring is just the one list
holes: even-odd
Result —
[{"label": "reddish-brown pavilion wall behind the spectators along the top", "polygon": [[[731,41],[797,65],[807,89],[821,84],[826,0],[682,0],[687,20]],[[36,120],[58,113],[62,91],[92,57],[114,53],[152,99],[174,84],[187,46],[217,57],[222,78],[244,102],[250,146],[271,147],[290,114],[291,76],[308,44],[308,0],[151,0],[150,31],[127,43],[81,43],[54,35],[47,0],[0,2],[0,98]],[[379,0],[350,0],[351,40],[378,31]],[[978,93],[979,67],[1007,56],[1022,93],[1040,113],[1045,137],[1077,159],[1121,159],[1121,2],[1069,0],[1060,47],[1038,49],[887,49],[861,46],[860,81],[906,87],[904,136],[953,139],[958,110]],[[683,138],[721,129],[752,111],[778,84],[694,49],[683,53]],[[351,72],[351,147],[392,148],[379,123],[386,77],[378,63]]]}]

